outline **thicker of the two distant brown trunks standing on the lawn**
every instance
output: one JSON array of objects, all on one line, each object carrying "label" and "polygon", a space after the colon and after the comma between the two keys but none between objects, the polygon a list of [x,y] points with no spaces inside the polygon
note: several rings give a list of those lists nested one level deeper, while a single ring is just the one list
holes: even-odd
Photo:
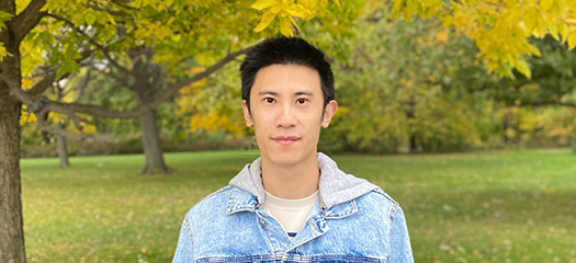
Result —
[{"label": "thicker of the two distant brown trunks standing on the lawn", "polygon": [[143,174],[169,173],[171,170],[166,167],[160,146],[160,136],[156,126],[156,111],[149,111],[140,116],[142,139],[144,142],[144,156],[146,163]]}]

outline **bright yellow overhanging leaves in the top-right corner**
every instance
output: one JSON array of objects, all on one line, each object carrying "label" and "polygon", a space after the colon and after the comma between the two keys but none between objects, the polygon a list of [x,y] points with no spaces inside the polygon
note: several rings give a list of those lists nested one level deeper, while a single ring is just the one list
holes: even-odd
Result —
[{"label": "bright yellow overhanging leaves in the top-right corner", "polygon": [[394,0],[394,14],[410,21],[414,14],[437,16],[473,39],[478,58],[489,71],[511,76],[512,69],[530,78],[527,57],[540,56],[530,37],[550,34],[554,39],[576,46],[576,2],[565,0]]}]

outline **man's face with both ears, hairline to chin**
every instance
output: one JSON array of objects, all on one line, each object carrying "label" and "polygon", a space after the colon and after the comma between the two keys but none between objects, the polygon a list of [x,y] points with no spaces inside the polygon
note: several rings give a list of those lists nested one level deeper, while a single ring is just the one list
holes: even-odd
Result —
[{"label": "man's face with both ears, hairline to chin", "polygon": [[295,165],[306,158],[316,159],[320,127],[328,127],[337,104],[330,101],[324,108],[315,69],[272,65],[256,76],[250,91],[251,114],[246,101],[242,108],[246,125],[255,128],[262,159],[276,165]]}]

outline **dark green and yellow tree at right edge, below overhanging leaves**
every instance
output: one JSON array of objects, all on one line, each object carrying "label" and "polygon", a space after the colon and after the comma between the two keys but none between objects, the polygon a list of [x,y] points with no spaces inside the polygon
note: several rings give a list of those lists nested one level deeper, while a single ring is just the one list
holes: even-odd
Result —
[{"label": "dark green and yellow tree at right edge, below overhanging leaves", "polygon": [[[566,125],[574,123],[576,108],[576,53],[551,36],[532,43],[542,50],[542,56],[528,58],[531,78],[513,71],[513,78],[502,81],[504,89],[486,92],[507,105],[501,112],[505,140],[518,141],[529,134],[567,145],[566,139],[574,139],[572,128]],[[550,108],[558,106],[568,108]]]}]

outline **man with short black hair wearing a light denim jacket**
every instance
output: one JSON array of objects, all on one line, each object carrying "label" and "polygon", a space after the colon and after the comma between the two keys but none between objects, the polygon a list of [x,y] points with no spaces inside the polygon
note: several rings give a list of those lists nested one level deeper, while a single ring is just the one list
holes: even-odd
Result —
[{"label": "man with short black hair wearing a light denim jacket", "polygon": [[316,150],[338,107],[324,54],[269,38],[240,71],[260,158],[187,214],[173,262],[414,262],[398,204]]}]

